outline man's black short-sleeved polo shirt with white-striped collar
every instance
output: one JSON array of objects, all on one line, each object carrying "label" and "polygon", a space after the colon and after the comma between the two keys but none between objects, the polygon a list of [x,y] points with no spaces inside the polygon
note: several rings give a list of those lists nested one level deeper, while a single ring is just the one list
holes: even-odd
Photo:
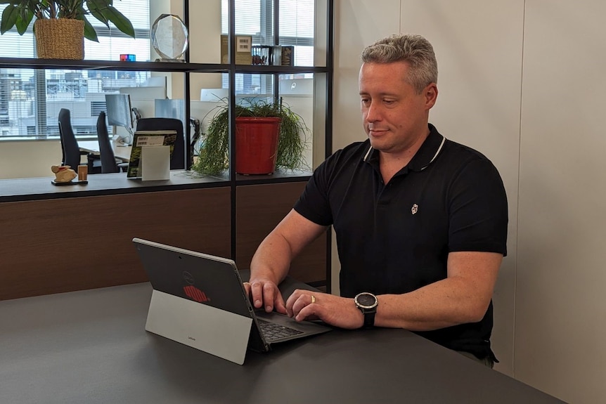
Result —
[{"label": "man's black short-sleeved polo shirt with white-striped collar", "polygon": [[[295,210],[333,225],[343,297],[402,294],[446,278],[449,252],[506,255],[503,181],[481,153],[430,135],[385,185],[370,141],[338,150],[314,171]],[[492,356],[492,303],[480,322],[418,332],[439,344]]]}]

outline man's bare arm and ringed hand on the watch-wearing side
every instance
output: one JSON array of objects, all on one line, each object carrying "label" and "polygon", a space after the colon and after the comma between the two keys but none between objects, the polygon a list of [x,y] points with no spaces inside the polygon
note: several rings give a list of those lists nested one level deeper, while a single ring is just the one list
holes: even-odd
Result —
[{"label": "man's bare arm and ringed hand on the watch-wearing side", "polygon": [[[382,294],[375,315],[378,327],[412,331],[437,330],[478,322],[486,313],[503,255],[492,252],[451,252],[448,278],[405,294]],[[354,299],[297,290],[286,302],[297,320],[320,318],[331,325],[359,328],[363,315]]]}]

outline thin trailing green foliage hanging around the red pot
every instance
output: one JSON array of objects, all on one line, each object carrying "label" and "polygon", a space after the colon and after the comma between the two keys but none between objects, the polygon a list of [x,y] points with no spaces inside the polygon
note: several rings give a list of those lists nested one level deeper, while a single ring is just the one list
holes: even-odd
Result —
[{"label": "thin trailing green foliage hanging around the red pot", "polygon": [[[229,167],[229,111],[226,100],[209,114],[207,130],[202,133],[198,159],[191,167],[193,171],[205,175],[217,175]],[[307,147],[309,128],[303,118],[292,112],[288,105],[282,103],[267,103],[264,100],[247,99],[245,103],[234,108],[236,117],[278,117],[282,119],[278,150],[276,151],[276,167],[282,169],[309,169],[304,158]]]}]

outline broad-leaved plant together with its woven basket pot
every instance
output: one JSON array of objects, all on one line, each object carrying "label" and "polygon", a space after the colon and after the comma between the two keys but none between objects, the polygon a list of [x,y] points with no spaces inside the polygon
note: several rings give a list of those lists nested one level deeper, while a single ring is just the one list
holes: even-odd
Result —
[{"label": "broad-leaved plant together with its woven basket pot", "polygon": [[86,15],[92,15],[107,27],[115,27],[135,37],[134,27],[113,6],[113,0],[0,0],[7,4],[0,20],[0,34],[16,27],[22,35],[34,21],[39,58],[83,59],[84,38],[97,41],[94,27]]}]

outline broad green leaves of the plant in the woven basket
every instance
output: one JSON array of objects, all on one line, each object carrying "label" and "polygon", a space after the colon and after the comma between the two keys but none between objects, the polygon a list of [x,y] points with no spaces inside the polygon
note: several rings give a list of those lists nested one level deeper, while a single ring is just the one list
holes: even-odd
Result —
[{"label": "broad green leaves of the plant in the woven basket", "polygon": [[83,20],[84,38],[98,42],[97,32],[86,17],[92,15],[106,27],[112,22],[124,34],[135,37],[132,23],[113,6],[113,0],[0,0],[0,4],[8,4],[2,12],[0,34],[16,27],[22,35],[34,17],[38,20],[71,18]]}]

